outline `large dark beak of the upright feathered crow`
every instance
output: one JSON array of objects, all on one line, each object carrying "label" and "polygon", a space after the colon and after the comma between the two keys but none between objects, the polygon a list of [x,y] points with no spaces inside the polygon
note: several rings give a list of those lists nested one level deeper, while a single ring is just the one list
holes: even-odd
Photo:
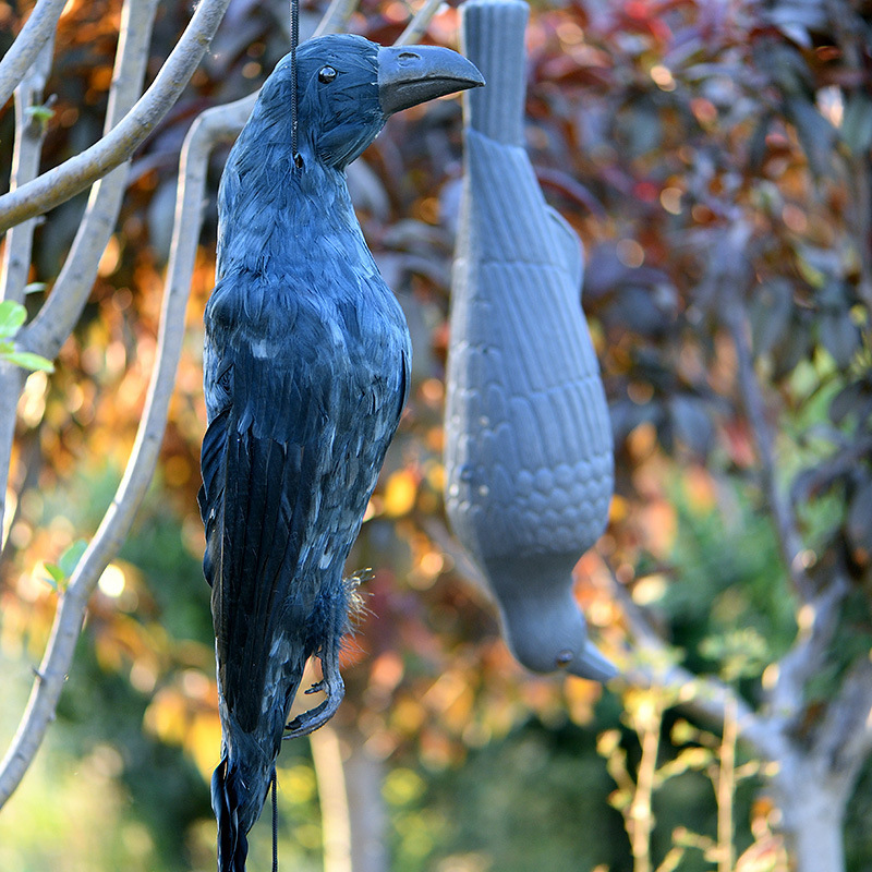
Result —
[{"label": "large dark beak of the upright feathered crow", "polygon": [[481,85],[484,76],[451,49],[389,46],[378,50],[378,101],[386,116]]}]

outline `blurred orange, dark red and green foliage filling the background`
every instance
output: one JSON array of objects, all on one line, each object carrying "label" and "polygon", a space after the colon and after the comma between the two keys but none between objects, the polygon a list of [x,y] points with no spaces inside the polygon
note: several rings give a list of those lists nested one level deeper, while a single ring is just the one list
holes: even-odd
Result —
[{"label": "blurred orange, dark red and green foliage filling the background", "polygon": [[[0,2],[0,49],[28,7]],[[323,11],[303,8],[311,19]],[[412,11],[403,0],[364,0],[351,29],[389,43]],[[809,545],[803,562],[822,580],[834,566],[851,579],[828,676],[870,644],[870,13],[848,0],[569,0],[532,10],[528,144],[546,196],[585,243],[583,299],[617,449],[611,522],[578,567],[578,595],[605,647],[625,657],[614,572],[678,662],[720,676],[752,705],[797,618],[737,388],[731,312],[750,316],[777,475]],[[190,3],[160,4],[149,75],[189,14]],[[283,2],[233,0],[184,96],[134,158],[117,232],[57,371],[27,379],[0,579],[3,743],[63,583],[47,565],[63,567],[93,534],[133,441],[182,138],[201,110],[263,82],[287,51],[286,19]],[[119,20],[118,0],[70,0],[64,10],[46,168],[100,134]],[[452,0],[427,39],[456,46],[457,33]],[[10,105],[0,113],[3,167],[12,124]],[[410,407],[350,561],[374,571],[332,728],[346,756],[374,762],[386,868],[724,869],[717,797],[729,776],[736,870],[787,869],[764,766],[730,747],[724,725],[685,719],[665,692],[524,674],[446,530],[443,376],[460,124],[457,99],[405,112],[350,172],[415,351]],[[175,872],[214,862],[207,779],[220,731],[195,494],[201,318],[226,154],[213,159],[159,474],[100,580],[46,747],[0,815],[1,869]],[[50,292],[84,197],[37,230],[32,312]],[[823,676],[812,701],[831,686]],[[322,782],[308,744],[289,744],[280,763],[282,864],[319,870]],[[872,868],[870,787],[867,771],[849,803],[855,872]],[[633,803],[642,788],[644,808]],[[650,865],[633,862],[627,833],[646,834]],[[252,868],[268,857],[264,823]]]}]

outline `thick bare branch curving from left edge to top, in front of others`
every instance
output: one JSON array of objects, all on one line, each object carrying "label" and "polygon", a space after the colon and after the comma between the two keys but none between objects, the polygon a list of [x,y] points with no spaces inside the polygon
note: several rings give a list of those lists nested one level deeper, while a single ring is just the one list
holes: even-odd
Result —
[{"label": "thick bare branch curving from left edge to top, in front of others", "polygon": [[152,86],[109,134],[0,197],[0,231],[68,201],[126,160],[182,93],[206,53],[229,2],[202,0]]}]

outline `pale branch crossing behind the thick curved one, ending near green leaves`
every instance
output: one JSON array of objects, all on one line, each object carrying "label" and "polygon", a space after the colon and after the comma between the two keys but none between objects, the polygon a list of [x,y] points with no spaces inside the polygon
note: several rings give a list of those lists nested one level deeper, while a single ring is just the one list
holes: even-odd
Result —
[{"label": "pale branch crossing behind the thick curved one, ending near green leaves", "polygon": [[[126,116],[142,94],[156,10],[157,0],[128,0],[122,8],[104,128],[106,134]],[[51,360],[73,331],[97,278],[100,256],[118,221],[129,169],[130,162],[125,161],[92,189],[85,215],[51,294],[19,338],[27,351]]]}]

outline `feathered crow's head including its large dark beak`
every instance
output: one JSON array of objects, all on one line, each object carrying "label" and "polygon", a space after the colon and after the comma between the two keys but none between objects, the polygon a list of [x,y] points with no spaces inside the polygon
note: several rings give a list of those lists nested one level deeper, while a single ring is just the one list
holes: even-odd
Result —
[{"label": "feathered crow's head including its large dark beak", "polygon": [[[290,55],[279,62],[261,95],[267,112],[288,123],[291,63]],[[350,34],[303,43],[296,51],[296,81],[303,165],[317,159],[336,169],[354,160],[393,112],[484,84],[475,66],[450,49],[385,48]]]}]

